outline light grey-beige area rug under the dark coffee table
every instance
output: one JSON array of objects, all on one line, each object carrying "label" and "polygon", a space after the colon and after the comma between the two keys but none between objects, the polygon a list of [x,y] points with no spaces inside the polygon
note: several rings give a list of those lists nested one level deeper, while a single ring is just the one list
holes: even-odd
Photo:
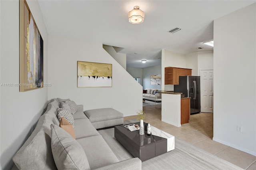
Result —
[{"label": "light grey-beige area rug under the dark coffee table", "polygon": [[[128,123],[133,122],[131,120],[124,122],[124,124]],[[114,128],[98,132],[120,161],[133,158],[114,137]],[[242,170],[242,168],[176,138],[174,150],[142,162],[142,170]]]}]

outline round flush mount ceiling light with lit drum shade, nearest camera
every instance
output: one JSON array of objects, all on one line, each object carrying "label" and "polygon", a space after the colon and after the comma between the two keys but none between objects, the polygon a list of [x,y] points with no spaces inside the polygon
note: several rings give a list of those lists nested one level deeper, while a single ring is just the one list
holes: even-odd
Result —
[{"label": "round flush mount ceiling light with lit drum shade, nearest camera", "polygon": [[139,6],[134,6],[128,14],[129,22],[132,24],[140,24],[144,21],[144,12],[140,10]]}]

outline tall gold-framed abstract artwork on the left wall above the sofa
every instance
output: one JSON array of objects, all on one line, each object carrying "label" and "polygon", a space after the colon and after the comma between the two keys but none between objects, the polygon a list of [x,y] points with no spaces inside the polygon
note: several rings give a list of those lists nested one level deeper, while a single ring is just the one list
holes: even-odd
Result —
[{"label": "tall gold-framed abstract artwork on the left wall above the sofa", "polygon": [[26,0],[20,0],[20,92],[44,87],[43,43]]}]

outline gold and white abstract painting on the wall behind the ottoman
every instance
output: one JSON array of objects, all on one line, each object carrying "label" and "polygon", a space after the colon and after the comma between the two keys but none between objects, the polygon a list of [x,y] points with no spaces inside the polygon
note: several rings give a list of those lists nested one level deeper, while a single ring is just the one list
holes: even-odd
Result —
[{"label": "gold and white abstract painting on the wall behind the ottoman", "polygon": [[112,87],[112,64],[77,61],[77,87]]}]

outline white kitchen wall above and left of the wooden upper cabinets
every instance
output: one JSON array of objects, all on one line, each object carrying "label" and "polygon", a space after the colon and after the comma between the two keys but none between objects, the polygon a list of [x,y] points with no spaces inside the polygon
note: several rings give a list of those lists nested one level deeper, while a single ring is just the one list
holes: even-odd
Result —
[{"label": "white kitchen wall above and left of the wooden upper cabinets", "polygon": [[[164,80],[164,67],[186,68],[186,55],[162,49],[162,79]],[[162,90],[173,91],[174,85],[164,85]]]}]

